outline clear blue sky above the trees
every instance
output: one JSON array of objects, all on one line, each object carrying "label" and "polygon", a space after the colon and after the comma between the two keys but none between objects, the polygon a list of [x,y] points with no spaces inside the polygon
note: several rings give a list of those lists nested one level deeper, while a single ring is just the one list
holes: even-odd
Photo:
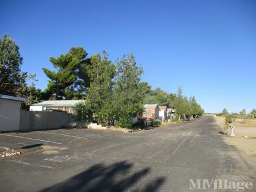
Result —
[{"label": "clear blue sky above the trees", "polygon": [[256,108],[256,1],[7,1],[0,34],[20,47],[38,88],[49,58],[81,46],[132,53],[153,88],[195,95],[206,112]]}]

